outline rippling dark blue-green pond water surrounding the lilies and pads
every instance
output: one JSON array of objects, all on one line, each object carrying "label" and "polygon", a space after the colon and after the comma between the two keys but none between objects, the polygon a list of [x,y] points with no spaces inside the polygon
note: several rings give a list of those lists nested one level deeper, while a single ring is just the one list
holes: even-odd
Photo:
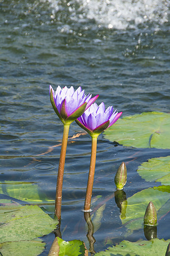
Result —
[{"label": "rippling dark blue-green pond water surrounding the lilies and pads", "polygon": [[[169,6],[168,0],[0,0],[1,182],[32,182],[49,199],[55,198],[63,125],[50,103],[49,84],[54,89],[82,86],[87,94],[99,94],[98,104],[113,105],[123,116],[169,112]],[[66,241],[81,239],[89,249],[81,210],[91,138],[80,132],[73,123],[61,233]],[[72,138],[74,134],[77,138]],[[169,154],[168,149],[123,147],[99,136],[92,213],[102,205],[103,209],[95,227],[96,252],[123,239],[146,239],[141,229],[127,237],[121,224],[114,198],[118,166],[125,162],[128,169],[128,198],[155,186],[139,177],[137,167],[148,158]],[[54,204],[41,207],[54,215]],[[48,254],[54,237],[44,237],[42,256]],[[165,220],[159,222],[157,237],[169,238]]]}]

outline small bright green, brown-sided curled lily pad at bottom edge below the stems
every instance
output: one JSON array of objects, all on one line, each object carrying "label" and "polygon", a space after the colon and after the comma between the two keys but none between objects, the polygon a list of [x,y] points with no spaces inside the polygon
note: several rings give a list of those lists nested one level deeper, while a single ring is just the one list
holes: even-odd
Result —
[{"label": "small bright green, brown-sided curled lily pad at bottom edge below the stems", "polygon": [[80,240],[66,242],[56,237],[49,250],[48,256],[88,256],[88,250]]}]

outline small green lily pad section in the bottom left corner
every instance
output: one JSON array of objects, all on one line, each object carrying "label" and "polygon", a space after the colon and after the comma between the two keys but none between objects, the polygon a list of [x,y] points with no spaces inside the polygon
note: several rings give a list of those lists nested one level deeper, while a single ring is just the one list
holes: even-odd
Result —
[{"label": "small green lily pad section in the bottom left corner", "polygon": [[37,256],[44,251],[45,244],[41,239],[8,242],[0,244],[0,251],[3,256]]}]

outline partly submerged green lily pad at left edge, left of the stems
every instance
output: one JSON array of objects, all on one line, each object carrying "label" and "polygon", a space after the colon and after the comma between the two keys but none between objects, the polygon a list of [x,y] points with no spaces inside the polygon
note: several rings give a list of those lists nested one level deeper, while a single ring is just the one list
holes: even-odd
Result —
[{"label": "partly submerged green lily pad at left edge, left of the stems", "polygon": [[46,197],[35,183],[23,181],[0,182],[0,194],[4,194],[30,204],[54,203]]}]

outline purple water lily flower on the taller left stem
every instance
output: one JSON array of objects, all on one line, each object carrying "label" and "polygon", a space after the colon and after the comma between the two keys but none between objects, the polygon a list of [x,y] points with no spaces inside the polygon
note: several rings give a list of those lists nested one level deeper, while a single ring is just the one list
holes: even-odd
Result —
[{"label": "purple water lily flower on the taller left stem", "polygon": [[96,95],[91,98],[91,94],[84,94],[84,90],[81,87],[74,91],[73,86],[70,88],[65,86],[63,89],[58,86],[54,91],[50,85],[49,93],[53,109],[63,124],[70,124],[80,117],[99,96]]}]

